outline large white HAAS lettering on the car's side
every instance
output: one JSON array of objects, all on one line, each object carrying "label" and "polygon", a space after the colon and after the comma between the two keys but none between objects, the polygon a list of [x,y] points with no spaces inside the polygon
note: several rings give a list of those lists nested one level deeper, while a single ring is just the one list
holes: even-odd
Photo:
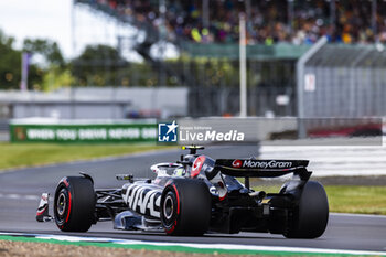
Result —
[{"label": "large white HAAS lettering on the car's side", "polygon": [[127,188],[124,201],[137,213],[160,217],[161,192],[159,190],[131,184]]}]

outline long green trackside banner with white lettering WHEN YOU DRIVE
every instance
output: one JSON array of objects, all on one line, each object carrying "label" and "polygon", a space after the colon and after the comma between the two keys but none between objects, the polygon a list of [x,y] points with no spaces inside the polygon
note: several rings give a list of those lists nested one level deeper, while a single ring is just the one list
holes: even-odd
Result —
[{"label": "long green trackside banner with white lettering WHEN YOU DRIVE", "polygon": [[154,124],[10,125],[12,142],[156,141]]}]

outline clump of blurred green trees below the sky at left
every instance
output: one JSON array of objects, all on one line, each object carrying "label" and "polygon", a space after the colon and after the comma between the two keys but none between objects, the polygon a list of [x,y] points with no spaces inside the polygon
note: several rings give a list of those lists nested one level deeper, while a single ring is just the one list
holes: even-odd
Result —
[{"label": "clump of blurred green trees below the sky at left", "polygon": [[23,52],[31,56],[28,89],[111,86],[127,81],[122,67],[127,67],[128,62],[111,46],[89,45],[72,63],[66,63],[58,45],[51,40],[26,39],[21,51],[14,49],[14,42],[0,31],[0,89],[20,88]]}]

